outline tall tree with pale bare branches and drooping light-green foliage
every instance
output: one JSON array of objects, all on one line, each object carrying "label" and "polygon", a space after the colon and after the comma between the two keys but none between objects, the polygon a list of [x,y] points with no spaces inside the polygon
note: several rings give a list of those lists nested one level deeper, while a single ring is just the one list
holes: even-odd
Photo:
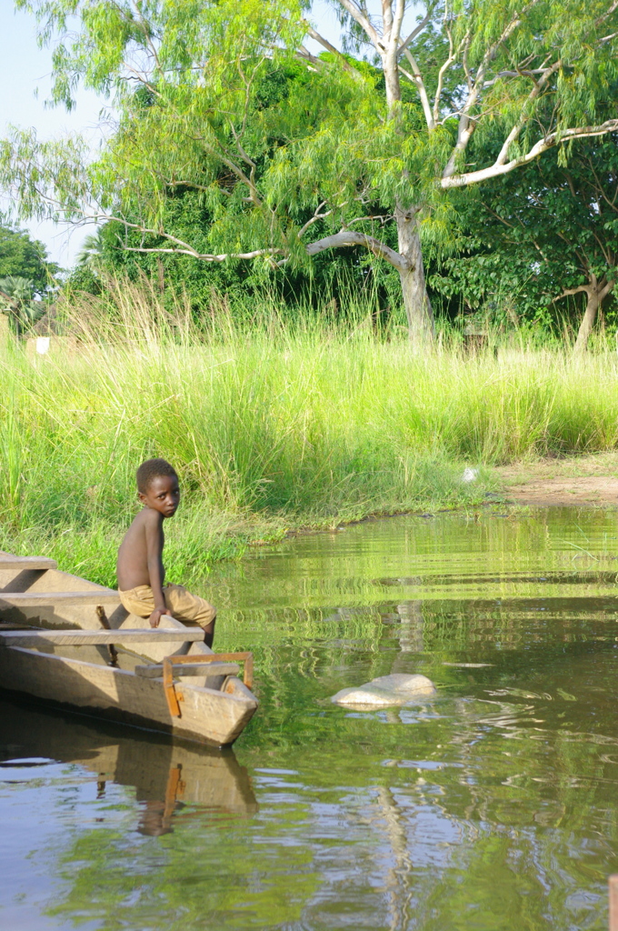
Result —
[{"label": "tall tree with pale bare branches and drooping light-green foliage", "polygon": [[[24,216],[114,218],[145,237],[126,246],[143,253],[274,267],[362,246],[396,269],[410,338],[430,341],[422,239],[449,238],[445,192],[618,128],[598,121],[616,75],[618,4],[427,0],[412,25],[410,0],[383,0],[382,16],[366,0],[332,2],[344,48],[370,62],[338,52],[301,0],[19,0],[43,41],[80,18],[54,52],[54,100],[70,106],[84,81],[112,96],[119,120],[94,163],[84,142],[14,130],[0,182]],[[325,55],[306,49],[307,34]],[[264,100],[266,77],[298,61],[303,79]],[[493,161],[471,163],[473,135],[496,132]],[[199,192],[214,216],[206,248],[161,222],[179,189]],[[153,235],[165,244],[147,244]]]}]

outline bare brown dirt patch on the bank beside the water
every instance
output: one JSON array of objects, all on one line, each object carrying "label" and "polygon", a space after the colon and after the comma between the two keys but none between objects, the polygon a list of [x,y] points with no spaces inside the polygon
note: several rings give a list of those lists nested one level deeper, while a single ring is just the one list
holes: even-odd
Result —
[{"label": "bare brown dirt patch on the bank beside the water", "polygon": [[498,466],[508,501],[518,505],[618,507],[618,452]]}]

